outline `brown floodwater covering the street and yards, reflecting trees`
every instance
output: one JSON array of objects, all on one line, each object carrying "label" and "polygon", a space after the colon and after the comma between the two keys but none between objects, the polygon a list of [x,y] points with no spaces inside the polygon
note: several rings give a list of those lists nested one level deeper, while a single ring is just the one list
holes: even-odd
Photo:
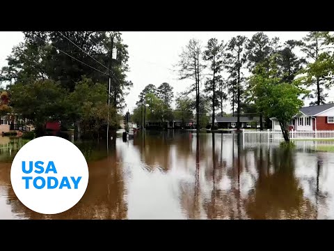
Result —
[{"label": "brown floodwater covering the street and yards, reflecting trees", "polygon": [[334,219],[334,153],[308,145],[244,147],[237,134],[177,131],[114,139],[109,154],[103,142],[83,144],[84,197],[64,213],[41,215],[15,196],[17,150],[1,140],[1,219]]}]

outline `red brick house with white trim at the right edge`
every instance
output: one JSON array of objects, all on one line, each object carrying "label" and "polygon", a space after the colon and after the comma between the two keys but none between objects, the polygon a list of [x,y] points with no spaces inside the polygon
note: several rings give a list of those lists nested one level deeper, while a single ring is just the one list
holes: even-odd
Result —
[{"label": "red brick house with white trim at the right edge", "polygon": [[[273,130],[280,130],[280,123],[276,118]],[[334,104],[303,107],[289,123],[290,130],[334,130]]]}]

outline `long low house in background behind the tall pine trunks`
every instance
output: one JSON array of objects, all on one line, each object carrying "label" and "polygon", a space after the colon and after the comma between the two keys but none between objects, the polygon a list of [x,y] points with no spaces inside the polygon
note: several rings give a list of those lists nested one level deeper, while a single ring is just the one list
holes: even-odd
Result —
[{"label": "long low house in background behind the tall pine trunks", "polygon": [[[237,128],[237,116],[216,116],[214,125],[218,128]],[[212,119],[210,119],[212,123]],[[264,122],[262,122],[264,126]],[[240,116],[240,128],[260,128],[260,118]]]}]

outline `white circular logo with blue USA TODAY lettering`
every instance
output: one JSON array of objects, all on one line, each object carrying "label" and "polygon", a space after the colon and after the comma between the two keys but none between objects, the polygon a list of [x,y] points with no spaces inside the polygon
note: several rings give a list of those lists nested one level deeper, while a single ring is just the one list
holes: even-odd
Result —
[{"label": "white circular logo with blue USA TODAY lettering", "polygon": [[22,146],[10,170],[17,198],[44,214],[62,213],[77,204],[88,176],[86,159],[77,146],[55,136],[38,137]]}]

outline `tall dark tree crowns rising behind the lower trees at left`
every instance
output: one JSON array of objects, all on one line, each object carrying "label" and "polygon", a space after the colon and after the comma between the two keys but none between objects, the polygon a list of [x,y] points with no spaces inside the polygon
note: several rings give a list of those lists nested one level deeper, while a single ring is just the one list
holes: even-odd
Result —
[{"label": "tall dark tree crowns rising behind the lower trees at left", "polygon": [[[126,80],[129,55],[127,45],[122,43],[121,33],[26,31],[24,35],[24,43],[15,46],[12,54],[8,56],[8,66],[2,68],[0,81],[31,83],[53,79],[70,92],[74,91],[76,83],[81,81],[83,75],[93,82],[108,83],[109,75],[104,73],[108,70],[106,68],[109,67],[113,46],[117,48],[117,59],[113,59],[111,66],[111,104],[118,108],[124,106],[124,96],[127,95],[132,82]],[[81,50],[93,56],[96,61]]]}]

